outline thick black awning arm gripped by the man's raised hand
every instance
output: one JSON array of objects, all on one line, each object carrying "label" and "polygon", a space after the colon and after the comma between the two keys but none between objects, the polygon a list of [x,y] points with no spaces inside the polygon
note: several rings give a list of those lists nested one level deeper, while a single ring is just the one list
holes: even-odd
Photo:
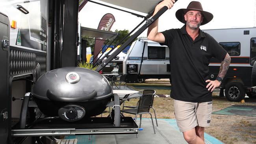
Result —
[{"label": "thick black awning arm gripped by the man's raised hand", "polygon": [[[177,1],[177,0],[176,0]],[[138,31],[136,31],[134,33],[134,35],[132,35],[126,42],[124,42],[124,44],[122,44],[122,46],[120,46],[115,52],[113,52],[112,55],[110,55],[101,65],[99,65],[95,71],[99,72],[100,70],[102,70],[102,68],[104,68],[104,66],[108,65],[108,63],[115,58],[120,52],[122,52],[122,50],[124,50],[124,48],[126,48],[126,46],[128,46],[134,39],[136,39],[143,31],[145,31],[148,26],[150,26],[155,20],[157,20],[165,11],[167,11],[168,7],[163,7],[160,11],[158,11],[156,13],[156,15],[154,15],[152,18],[148,19],[147,22],[141,27],[139,28]]]}]

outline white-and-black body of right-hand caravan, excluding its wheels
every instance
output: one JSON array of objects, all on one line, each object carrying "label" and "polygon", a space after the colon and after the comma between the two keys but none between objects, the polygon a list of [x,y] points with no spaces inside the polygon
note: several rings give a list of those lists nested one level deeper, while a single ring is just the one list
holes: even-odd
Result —
[{"label": "white-and-black body of right-hand caravan, excluding its wheels", "polygon": [[[223,46],[231,57],[228,72],[223,79],[225,83],[241,81],[245,87],[252,87],[252,65],[256,57],[256,28],[233,28],[204,30]],[[215,80],[219,74],[221,61],[212,58],[209,65],[210,78]]]}]

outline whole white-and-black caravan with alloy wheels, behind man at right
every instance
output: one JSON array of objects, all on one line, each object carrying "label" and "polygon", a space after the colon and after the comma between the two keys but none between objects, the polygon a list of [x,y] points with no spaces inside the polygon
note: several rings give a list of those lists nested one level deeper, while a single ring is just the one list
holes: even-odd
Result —
[{"label": "whole white-and-black caravan with alloy wheels, behind man at right", "polygon": [[[228,52],[231,63],[221,83],[220,95],[228,100],[239,102],[247,96],[255,95],[255,72],[252,72],[256,59],[256,28],[232,28],[203,30],[209,33]],[[219,74],[221,61],[212,58],[209,65],[210,79],[215,80]]]}]

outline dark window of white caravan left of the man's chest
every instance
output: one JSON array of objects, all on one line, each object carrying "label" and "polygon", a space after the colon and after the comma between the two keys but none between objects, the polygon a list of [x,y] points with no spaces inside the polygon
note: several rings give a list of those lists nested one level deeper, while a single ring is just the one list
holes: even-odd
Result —
[{"label": "dark window of white caravan left of the man's chest", "polygon": [[165,59],[165,47],[148,46],[148,59]]}]

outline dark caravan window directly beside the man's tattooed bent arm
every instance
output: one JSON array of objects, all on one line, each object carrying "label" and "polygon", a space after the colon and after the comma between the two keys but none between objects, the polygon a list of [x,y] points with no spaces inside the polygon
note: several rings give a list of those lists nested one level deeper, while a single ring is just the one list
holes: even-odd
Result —
[{"label": "dark caravan window directly beside the man's tattooed bent arm", "polygon": [[219,43],[230,56],[240,55],[240,42],[220,42]]}]

